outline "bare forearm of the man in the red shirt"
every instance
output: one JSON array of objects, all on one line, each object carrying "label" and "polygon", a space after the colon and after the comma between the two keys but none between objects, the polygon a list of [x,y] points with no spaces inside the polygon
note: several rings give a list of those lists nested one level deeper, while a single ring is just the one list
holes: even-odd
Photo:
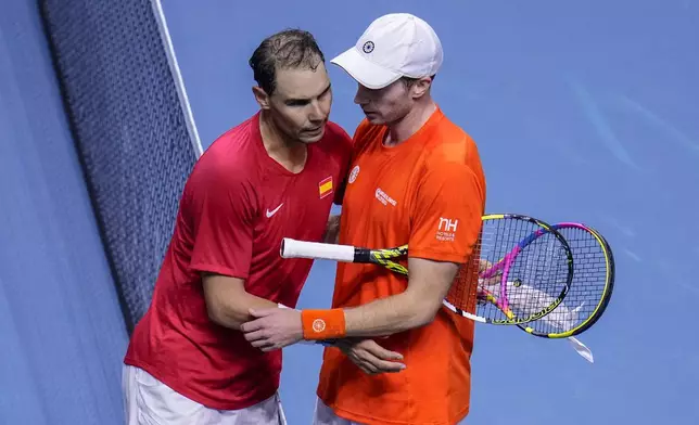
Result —
[{"label": "bare forearm of the man in the red shirt", "polygon": [[242,279],[205,274],[203,285],[208,318],[221,326],[236,331],[240,331],[240,325],[252,319],[251,308],[278,307],[276,302],[249,294]]}]

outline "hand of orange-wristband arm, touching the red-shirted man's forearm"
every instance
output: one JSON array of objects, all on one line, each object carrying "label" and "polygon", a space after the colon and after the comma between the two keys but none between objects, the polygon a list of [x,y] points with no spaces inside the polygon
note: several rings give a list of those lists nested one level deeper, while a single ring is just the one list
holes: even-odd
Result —
[{"label": "hand of orange-wristband arm, touching the red-shirted man's forearm", "polygon": [[251,309],[254,320],[240,326],[245,339],[263,351],[272,351],[303,339],[301,311],[291,308]]}]

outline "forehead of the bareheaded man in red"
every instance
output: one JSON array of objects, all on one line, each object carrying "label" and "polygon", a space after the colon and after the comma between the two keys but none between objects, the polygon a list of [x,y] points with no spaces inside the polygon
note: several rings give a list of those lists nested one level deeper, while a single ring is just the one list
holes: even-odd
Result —
[{"label": "forehead of the bareheaded man in red", "polygon": [[321,94],[330,83],[322,63],[309,67],[280,68],[276,72],[278,94],[285,99],[312,99]]}]

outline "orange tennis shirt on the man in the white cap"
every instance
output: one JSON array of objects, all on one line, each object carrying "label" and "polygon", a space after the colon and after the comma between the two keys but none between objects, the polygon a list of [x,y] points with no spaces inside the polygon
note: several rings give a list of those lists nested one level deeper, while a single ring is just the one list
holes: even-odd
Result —
[{"label": "orange tennis shirt on the man in the white cap", "polygon": [[[412,137],[386,147],[386,127],[364,120],[342,207],[340,243],[466,262],[481,231],[485,178],[473,140],[437,108]],[[402,293],[407,278],[373,265],[339,263],[332,307]],[[425,326],[377,339],[404,356],[399,373],[367,375],[326,348],[318,397],[364,424],[455,424],[468,414],[473,322],[442,308]]]}]

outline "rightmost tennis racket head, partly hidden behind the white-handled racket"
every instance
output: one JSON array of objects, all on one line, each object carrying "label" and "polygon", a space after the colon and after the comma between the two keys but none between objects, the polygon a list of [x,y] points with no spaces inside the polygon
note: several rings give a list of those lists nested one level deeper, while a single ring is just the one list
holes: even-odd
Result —
[{"label": "rightmost tennis racket head, partly hidden behind the white-handled racket", "polygon": [[[575,270],[573,282],[565,300],[546,317],[532,321],[520,327],[536,336],[545,338],[568,338],[589,330],[603,314],[614,286],[614,257],[609,243],[589,226],[577,222],[560,222],[552,226],[568,241]],[[536,291],[530,285],[522,285],[524,291]],[[547,306],[546,294],[533,297],[524,296],[529,302],[517,307],[538,311]],[[526,314],[525,311],[518,312]]]}]

